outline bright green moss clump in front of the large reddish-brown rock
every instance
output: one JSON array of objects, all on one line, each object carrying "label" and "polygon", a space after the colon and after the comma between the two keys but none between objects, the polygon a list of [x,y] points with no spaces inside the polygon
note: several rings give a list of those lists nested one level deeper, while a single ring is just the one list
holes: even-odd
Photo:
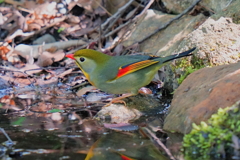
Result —
[{"label": "bright green moss clump in front of the large reddish-brown rock", "polygon": [[223,152],[234,150],[232,136],[240,135],[240,101],[227,108],[220,108],[207,123],[193,124],[193,129],[184,136],[185,159],[219,158]]}]

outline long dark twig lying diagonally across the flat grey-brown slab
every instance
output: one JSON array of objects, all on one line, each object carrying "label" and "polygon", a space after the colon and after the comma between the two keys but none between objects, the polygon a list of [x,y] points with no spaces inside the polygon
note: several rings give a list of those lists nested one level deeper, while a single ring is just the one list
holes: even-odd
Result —
[{"label": "long dark twig lying diagonally across the flat grey-brown slab", "polygon": [[157,32],[165,29],[166,27],[168,27],[173,21],[181,18],[183,15],[185,15],[186,13],[188,13],[189,11],[191,11],[195,5],[197,5],[201,0],[196,0],[190,7],[188,7],[187,9],[185,9],[181,14],[177,15],[176,17],[172,18],[169,22],[165,23],[163,26],[159,27],[156,31],[154,31],[153,33],[149,34],[147,37],[143,38],[142,40],[138,41],[137,43],[142,43],[143,41],[149,39],[150,37],[152,37],[153,35],[155,35]]}]

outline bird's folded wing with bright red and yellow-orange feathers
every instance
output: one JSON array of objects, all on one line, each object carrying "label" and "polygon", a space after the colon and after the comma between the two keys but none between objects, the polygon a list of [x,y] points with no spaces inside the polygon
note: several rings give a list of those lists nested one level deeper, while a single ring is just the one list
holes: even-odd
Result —
[{"label": "bird's folded wing with bright red and yellow-orange feathers", "polygon": [[135,72],[135,71],[138,71],[140,69],[143,69],[145,67],[148,67],[148,66],[151,66],[155,63],[158,63],[159,61],[155,61],[155,60],[142,60],[142,61],[138,61],[138,62],[134,62],[134,63],[131,63],[131,64],[128,64],[128,65],[124,65],[124,66],[121,66],[119,67],[118,69],[118,73],[116,75],[116,77],[110,81],[113,81],[113,80],[116,80],[122,76],[125,76],[129,73],[132,73],[132,72]]}]

